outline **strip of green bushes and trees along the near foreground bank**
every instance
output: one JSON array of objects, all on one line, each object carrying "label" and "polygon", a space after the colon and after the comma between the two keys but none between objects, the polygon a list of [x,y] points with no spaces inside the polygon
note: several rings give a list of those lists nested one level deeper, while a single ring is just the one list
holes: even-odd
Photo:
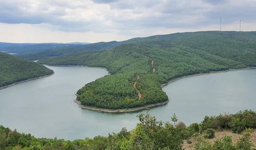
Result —
[{"label": "strip of green bushes and trees along the near foreground bank", "polygon": [[[185,141],[196,150],[255,150],[250,134],[255,132],[256,112],[244,110],[236,114],[205,116],[201,123],[186,126],[175,114],[168,122],[158,121],[146,114],[139,114],[139,123],[128,131],[122,128],[118,133],[74,141],[57,138],[36,138],[31,134],[19,133],[0,126],[1,150],[182,150]],[[242,134],[235,142],[231,136],[224,136],[214,144],[206,139],[214,138],[215,131],[232,130]],[[195,138],[192,143],[189,139]],[[255,147],[255,146],[254,146]]]}]

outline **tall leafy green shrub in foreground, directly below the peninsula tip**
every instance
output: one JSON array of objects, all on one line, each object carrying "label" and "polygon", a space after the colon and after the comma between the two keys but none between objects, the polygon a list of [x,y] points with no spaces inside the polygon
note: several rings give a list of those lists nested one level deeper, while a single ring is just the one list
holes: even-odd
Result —
[{"label": "tall leafy green shrub in foreground, directly below the peninsula tip", "polygon": [[187,137],[182,131],[186,130],[184,123],[174,126],[170,122],[157,121],[148,112],[138,118],[140,123],[131,132],[130,139],[122,144],[122,150],[182,150]]}]

